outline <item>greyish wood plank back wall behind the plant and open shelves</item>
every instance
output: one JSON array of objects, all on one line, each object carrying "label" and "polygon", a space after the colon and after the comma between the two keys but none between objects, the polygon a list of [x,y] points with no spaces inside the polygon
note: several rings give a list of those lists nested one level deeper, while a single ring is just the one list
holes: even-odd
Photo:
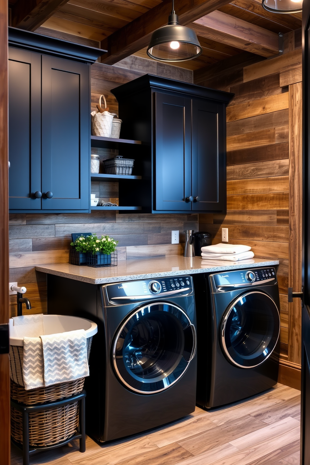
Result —
[{"label": "greyish wood plank back wall behind the plant and open shelves", "polygon": [[[129,57],[117,66],[94,63],[91,67],[92,110],[99,96],[106,96],[111,112],[118,105],[111,93],[113,87],[146,73],[192,82],[191,70],[169,66],[139,57]],[[99,183],[96,183],[99,184]],[[118,197],[118,183],[100,183],[103,197]],[[106,186],[105,186],[106,185]],[[95,186],[96,188],[96,186]],[[71,233],[109,234],[119,240],[118,258],[139,258],[182,254],[179,244],[171,245],[171,230],[198,229],[198,215],[119,214],[118,212],[10,214],[10,282],[26,285],[26,297],[32,309],[23,312],[46,312],[46,275],[35,272],[43,263],[66,263],[69,260]],[[156,247],[154,247],[156,246]],[[10,296],[10,315],[16,315],[16,296]]]}]

